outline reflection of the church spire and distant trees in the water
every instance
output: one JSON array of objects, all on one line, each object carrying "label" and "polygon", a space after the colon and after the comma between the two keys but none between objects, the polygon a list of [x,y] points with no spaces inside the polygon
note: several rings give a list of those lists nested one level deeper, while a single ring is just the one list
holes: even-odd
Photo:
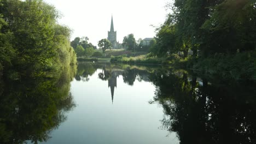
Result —
[{"label": "reflection of the church spire and distant trees in the water", "polygon": [[[95,73],[97,69],[102,69],[101,73],[98,73],[98,79],[108,81],[108,87],[110,87],[112,104],[114,99],[114,89],[117,88],[117,78],[123,76],[124,83],[133,86],[133,83],[137,79],[138,81],[149,81],[149,74],[155,69],[162,69],[159,66],[154,67],[138,67],[135,65],[124,64],[110,64],[110,63],[80,63],[78,67],[78,73],[75,76],[76,80],[86,79],[89,81],[88,76]],[[85,70],[89,69],[89,70]],[[82,71],[82,73],[80,72]],[[90,73],[88,73],[90,71]]]}]

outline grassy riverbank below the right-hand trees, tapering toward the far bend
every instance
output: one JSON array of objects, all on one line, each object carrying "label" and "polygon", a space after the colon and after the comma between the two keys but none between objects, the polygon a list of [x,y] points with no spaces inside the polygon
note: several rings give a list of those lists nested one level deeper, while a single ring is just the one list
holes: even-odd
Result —
[{"label": "grassy riverbank below the right-hand trees, tapering toward the far bend", "polygon": [[236,55],[216,54],[208,58],[185,58],[176,55],[155,57],[141,55],[137,57],[112,57],[110,62],[126,64],[161,64],[176,68],[191,69],[200,74],[214,75],[234,80],[256,80],[256,52],[242,52]]}]

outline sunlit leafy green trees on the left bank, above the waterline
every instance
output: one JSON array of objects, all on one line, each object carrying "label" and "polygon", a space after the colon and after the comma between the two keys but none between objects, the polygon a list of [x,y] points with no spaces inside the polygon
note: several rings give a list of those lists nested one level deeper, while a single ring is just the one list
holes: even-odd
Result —
[{"label": "sunlit leafy green trees on the left bank, above the waterline", "polygon": [[71,30],[57,24],[57,17],[57,10],[41,0],[0,1],[2,77],[51,77],[50,72],[77,63]]}]

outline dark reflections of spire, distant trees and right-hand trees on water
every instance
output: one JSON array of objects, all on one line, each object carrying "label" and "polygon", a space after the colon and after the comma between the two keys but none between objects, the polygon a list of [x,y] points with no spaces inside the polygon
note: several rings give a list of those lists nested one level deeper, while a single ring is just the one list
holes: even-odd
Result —
[{"label": "dark reflections of spire, distant trees and right-hand trees on water", "polygon": [[149,103],[163,107],[162,128],[176,132],[180,143],[256,143],[254,81],[223,80],[161,66],[110,63],[81,64],[78,71],[83,73],[75,77],[89,80],[97,69],[101,70],[98,79],[108,81],[112,101],[119,75],[131,86],[135,80],[152,82],[156,91]]}]

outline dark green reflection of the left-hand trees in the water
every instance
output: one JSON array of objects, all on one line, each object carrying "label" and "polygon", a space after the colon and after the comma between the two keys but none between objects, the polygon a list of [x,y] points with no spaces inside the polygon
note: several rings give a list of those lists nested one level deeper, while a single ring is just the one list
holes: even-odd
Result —
[{"label": "dark green reflection of the left-hand trees in the water", "polygon": [[66,120],[74,106],[69,93],[73,71],[67,68],[51,79],[27,77],[1,82],[0,143],[46,141],[51,130]]}]

